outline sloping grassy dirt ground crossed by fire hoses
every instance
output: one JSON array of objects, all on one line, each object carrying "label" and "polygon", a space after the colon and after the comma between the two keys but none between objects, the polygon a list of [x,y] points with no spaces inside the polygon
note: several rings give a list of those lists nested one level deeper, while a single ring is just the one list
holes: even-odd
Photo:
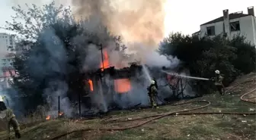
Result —
[{"label": "sloping grassy dirt ground crossed by fire hoses", "polygon": [[[194,110],[193,112],[250,112],[256,111],[256,104],[240,100],[240,96],[256,88],[255,82],[247,82],[237,85],[238,82],[255,78],[256,74],[242,76],[236,80],[226,95],[205,95],[192,101],[210,101],[210,106]],[[251,92],[245,98],[254,100],[256,91]],[[159,109],[123,110],[114,111],[103,119],[94,120],[50,120],[35,125],[22,127],[24,140],[50,140],[56,135],[72,132],[79,129],[93,129],[88,131],[77,131],[65,135],[59,140],[255,140],[256,139],[256,117],[255,115],[181,115],[173,114],[158,120],[152,120],[145,125],[134,129],[122,131],[101,131],[102,128],[123,128],[133,126],[152,118],[136,120],[139,117],[164,114],[176,110],[187,110],[199,107],[204,103],[191,103],[179,106],[165,105]],[[13,135],[12,135],[13,137]],[[6,132],[0,132],[0,139],[6,138]]]}]

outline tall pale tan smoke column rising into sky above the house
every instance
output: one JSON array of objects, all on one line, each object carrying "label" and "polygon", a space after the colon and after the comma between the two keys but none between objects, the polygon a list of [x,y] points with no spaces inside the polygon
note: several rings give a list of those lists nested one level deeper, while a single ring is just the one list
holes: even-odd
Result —
[{"label": "tall pale tan smoke column rising into sky above the house", "polygon": [[[92,28],[100,23],[107,26],[110,33],[121,36],[127,47],[126,53],[135,53],[129,61],[140,61],[154,67],[170,67],[170,59],[155,52],[165,35],[165,2],[72,0],[72,8],[77,19],[91,20],[93,17]],[[120,57],[113,60],[118,59]],[[126,62],[122,65],[126,66]]]}]

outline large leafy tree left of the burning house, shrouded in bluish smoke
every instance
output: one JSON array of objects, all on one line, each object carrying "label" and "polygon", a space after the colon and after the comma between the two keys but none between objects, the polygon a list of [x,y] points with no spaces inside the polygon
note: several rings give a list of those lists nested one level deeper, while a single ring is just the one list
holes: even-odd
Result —
[{"label": "large leafy tree left of the burning house, shrouded in bluish smoke", "polygon": [[120,36],[110,35],[101,24],[91,30],[88,28],[91,20],[75,21],[70,8],[56,7],[54,2],[42,8],[36,5],[27,8],[27,11],[20,6],[13,8],[16,16],[6,27],[18,33],[14,68],[19,76],[14,77],[12,86],[27,97],[24,98],[27,110],[45,103],[45,92],[85,93],[83,65],[89,44],[106,46],[111,41],[116,43],[116,49],[125,49]]}]

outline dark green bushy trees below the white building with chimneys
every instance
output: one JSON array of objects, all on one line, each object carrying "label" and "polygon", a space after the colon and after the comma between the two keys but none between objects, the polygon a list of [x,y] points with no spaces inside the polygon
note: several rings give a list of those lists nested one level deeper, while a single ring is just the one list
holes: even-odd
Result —
[{"label": "dark green bushy trees below the white building with chimneys", "polygon": [[[244,36],[200,38],[172,33],[164,39],[159,52],[180,59],[192,76],[210,78],[214,76],[214,70],[220,70],[225,77],[225,86],[238,75],[255,70],[256,50]],[[211,82],[197,81],[199,85],[203,92],[210,92],[207,89],[213,87]]]}]

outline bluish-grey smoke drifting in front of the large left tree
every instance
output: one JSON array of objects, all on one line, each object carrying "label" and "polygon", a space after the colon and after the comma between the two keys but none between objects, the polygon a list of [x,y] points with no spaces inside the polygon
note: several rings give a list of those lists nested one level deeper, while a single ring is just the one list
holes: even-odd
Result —
[{"label": "bluish-grey smoke drifting in front of the large left tree", "polygon": [[60,98],[62,111],[70,117],[72,109],[70,109],[71,104],[69,103],[69,98],[67,98],[69,87],[66,81],[59,77],[66,75],[68,67],[71,67],[66,65],[68,60],[62,40],[56,36],[53,29],[44,30],[38,40],[42,45],[31,52],[27,61],[27,65],[30,68],[27,71],[40,82],[44,79],[47,80],[48,85],[44,89],[43,95],[51,110],[49,114],[57,114],[57,103],[58,98]]}]

